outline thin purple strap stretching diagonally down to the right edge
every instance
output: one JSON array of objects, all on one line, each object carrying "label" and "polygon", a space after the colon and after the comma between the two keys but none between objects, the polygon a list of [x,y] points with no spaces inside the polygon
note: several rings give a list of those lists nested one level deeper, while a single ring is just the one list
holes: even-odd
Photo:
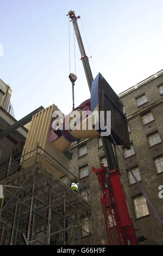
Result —
[{"label": "thin purple strap stretching diagonally down to the right edge", "polygon": [[[112,140],[114,141],[115,145],[117,146],[116,141],[114,140],[114,138],[113,138],[112,134],[110,134],[110,136],[111,136]],[[117,146],[117,148],[118,148],[118,146]],[[139,183],[139,181],[137,180],[137,178],[135,177],[135,175],[133,174],[133,172],[132,172],[132,171],[131,171],[131,169],[129,168],[129,166],[128,166],[128,164],[127,164],[126,160],[124,159],[124,157],[123,157],[123,155],[122,155],[122,153],[121,153],[121,151],[120,151],[120,148],[118,148],[118,151],[120,152],[120,154],[121,154],[121,156],[122,156],[122,159],[123,159],[124,163],[126,163],[127,168],[128,168],[128,169],[129,169],[129,171],[131,172],[131,175],[133,176],[133,178],[134,178],[135,182],[136,182],[136,183],[137,183],[137,185],[139,186],[139,188],[140,188],[140,190],[141,190],[141,192],[142,192],[143,196],[146,198],[146,200],[147,200],[148,204],[149,204],[149,205],[151,205],[151,207],[152,207],[152,209],[153,209],[153,211],[154,211],[155,216],[158,218],[159,222],[162,224],[162,227],[163,227],[163,222],[161,221],[161,219],[160,219],[160,217],[159,217],[158,213],[156,212],[156,210],[155,210],[154,206],[152,205],[151,201],[150,201],[150,200],[149,200],[149,198],[147,197],[147,194],[145,193],[145,190],[142,188],[141,184]]]}]

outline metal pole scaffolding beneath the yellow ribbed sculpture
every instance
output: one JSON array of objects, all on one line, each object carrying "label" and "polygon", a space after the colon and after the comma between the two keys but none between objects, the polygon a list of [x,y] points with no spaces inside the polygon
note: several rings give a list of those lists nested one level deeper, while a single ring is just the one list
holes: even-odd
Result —
[{"label": "metal pole scaffolding beneath the yellow ribbed sculpture", "polygon": [[[39,145],[33,150],[32,166],[24,168],[31,153],[24,150],[20,158],[9,159],[9,164],[0,168],[0,184],[4,189],[1,245],[80,245],[83,237],[91,245],[91,204],[85,200],[89,198],[87,186],[79,182],[84,199],[68,186],[74,175],[66,168],[63,171],[61,163],[62,177],[41,165],[40,150],[44,151]],[[56,160],[44,153],[53,166]]]}]

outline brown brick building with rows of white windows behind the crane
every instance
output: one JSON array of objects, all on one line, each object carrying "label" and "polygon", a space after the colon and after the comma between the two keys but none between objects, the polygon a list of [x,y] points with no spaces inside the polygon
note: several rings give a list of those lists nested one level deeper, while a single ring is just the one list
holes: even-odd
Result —
[{"label": "brown brick building with rows of white windows behind the crane", "polygon": [[[163,184],[163,70],[122,92],[119,97],[127,116],[131,143],[130,150],[122,147],[120,150],[159,217],[163,219],[163,198],[159,198],[159,187]],[[99,168],[100,163],[107,165],[101,138],[74,143],[71,150],[73,160],[70,170],[79,177],[80,186],[86,184],[89,196],[86,193],[81,195],[92,204],[91,223],[85,219],[87,233],[81,234],[82,243],[90,244],[91,236],[92,245],[107,245],[108,237],[100,201],[101,189],[91,168]],[[135,228],[140,228],[137,236],[148,237],[141,244],[163,245],[160,222],[135,184],[118,151],[117,158],[122,170],[129,213]]]}]

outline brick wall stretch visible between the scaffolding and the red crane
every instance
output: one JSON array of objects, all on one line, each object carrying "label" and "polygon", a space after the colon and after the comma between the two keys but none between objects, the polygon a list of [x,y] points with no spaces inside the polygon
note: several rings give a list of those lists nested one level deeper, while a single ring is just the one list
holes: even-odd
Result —
[{"label": "brick wall stretch visible between the scaffolding and the red crane", "polygon": [[[71,148],[73,159],[70,162],[70,171],[79,177],[79,193],[92,205],[91,222],[85,219],[87,233],[81,233],[81,244],[107,245],[108,237],[101,207],[101,188],[92,166],[100,167],[100,162],[106,166],[105,152],[102,146],[101,137],[83,140],[79,144],[74,143]],[[87,193],[82,194],[80,189],[86,186]],[[85,229],[85,227],[83,227]],[[91,236],[91,237],[90,237]]]}]

